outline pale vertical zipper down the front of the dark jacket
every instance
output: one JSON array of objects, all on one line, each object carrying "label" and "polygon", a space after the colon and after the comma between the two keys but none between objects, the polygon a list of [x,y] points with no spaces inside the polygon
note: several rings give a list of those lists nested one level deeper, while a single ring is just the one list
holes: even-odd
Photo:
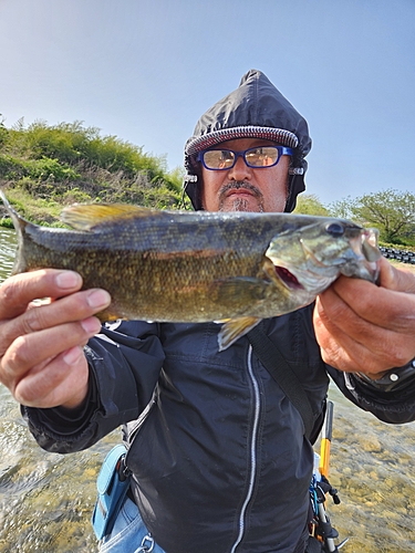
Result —
[{"label": "pale vertical zipper down the front of the dark jacket", "polygon": [[234,543],[230,553],[235,553],[238,545],[241,543],[245,534],[245,517],[249,505],[250,500],[252,499],[253,486],[257,477],[257,437],[258,437],[258,425],[259,425],[259,414],[260,414],[260,395],[259,395],[259,385],[258,380],[253,374],[252,369],[252,346],[249,346],[248,351],[248,374],[250,382],[252,384],[253,389],[253,422],[252,422],[252,432],[251,432],[251,447],[250,447],[250,476],[249,476],[249,487],[247,491],[247,495],[242,503],[240,513],[239,513],[239,534]]}]

